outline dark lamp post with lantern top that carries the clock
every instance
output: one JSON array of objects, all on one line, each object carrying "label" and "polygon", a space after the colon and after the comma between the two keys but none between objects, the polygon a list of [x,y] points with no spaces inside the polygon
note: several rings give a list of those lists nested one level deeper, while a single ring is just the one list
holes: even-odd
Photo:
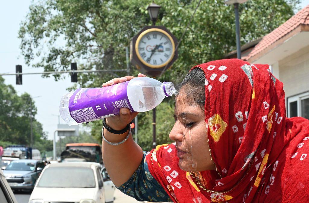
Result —
[{"label": "dark lamp post with lantern top that carries the clock", "polygon": [[[159,10],[161,6],[155,4],[152,2],[148,7],[148,13],[150,16],[150,19],[152,21],[153,26],[155,26],[155,22],[157,21]],[[153,148],[156,147],[156,110],[155,108],[152,110],[152,143],[153,143]]]}]

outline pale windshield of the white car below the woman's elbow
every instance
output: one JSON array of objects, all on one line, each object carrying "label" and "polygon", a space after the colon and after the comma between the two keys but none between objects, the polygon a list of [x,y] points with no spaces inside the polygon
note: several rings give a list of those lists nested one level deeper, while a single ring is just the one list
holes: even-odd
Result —
[{"label": "pale windshield of the white car below the woman's elbow", "polygon": [[51,167],[41,175],[41,188],[94,188],[95,176],[91,168]]}]

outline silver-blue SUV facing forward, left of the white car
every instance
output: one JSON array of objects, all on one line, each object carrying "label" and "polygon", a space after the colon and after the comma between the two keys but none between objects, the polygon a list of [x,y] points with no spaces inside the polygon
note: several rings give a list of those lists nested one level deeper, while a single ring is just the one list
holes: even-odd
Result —
[{"label": "silver-blue SUV facing forward, left of the white car", "polygon": [[6,167],[3,174],[13,190],[31,191],[44,166],[38,160],[15,160]]}]

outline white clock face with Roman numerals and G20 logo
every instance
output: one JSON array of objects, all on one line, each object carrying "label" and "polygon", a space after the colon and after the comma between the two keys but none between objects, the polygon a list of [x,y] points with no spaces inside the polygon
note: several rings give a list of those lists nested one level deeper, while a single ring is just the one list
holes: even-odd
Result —
[{"label": "white clock face with Roman numerals and G20 logo", "polygon": [[173,58],[174,42],[163,32],[147,32],[137,43],[140,60],[150,67],[163,67]]}]

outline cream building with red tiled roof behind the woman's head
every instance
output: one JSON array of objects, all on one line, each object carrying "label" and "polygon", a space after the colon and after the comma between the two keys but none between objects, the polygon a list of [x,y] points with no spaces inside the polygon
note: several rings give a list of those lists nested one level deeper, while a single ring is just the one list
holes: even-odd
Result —
[{"label": "cream building with red tiled roof behind the woman's head", "polygon": [[[309,5],[262,39],[241,47],[242,59],[269,64],[283,82],[288,117],[309,119]],[[236,58],[236,51],[225,58]]]}]

